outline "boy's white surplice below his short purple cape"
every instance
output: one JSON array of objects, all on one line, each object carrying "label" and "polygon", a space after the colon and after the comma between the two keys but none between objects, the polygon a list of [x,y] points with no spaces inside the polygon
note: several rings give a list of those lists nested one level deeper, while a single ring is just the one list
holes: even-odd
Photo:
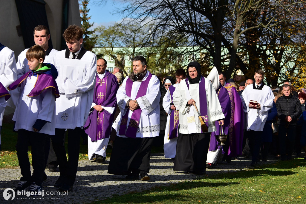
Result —
[{"label": "boy's white surplice below his short purple cape", "polygon": [[33,132],[36,119],[47,121],[39,133],[55,135],[55,95],[52,89],[45,89],[35,97],[27,97],[32,91],[37,76],[21,83],[21,92],[14,112],[13,121],[16,121],[15,130],[26,129]]}]

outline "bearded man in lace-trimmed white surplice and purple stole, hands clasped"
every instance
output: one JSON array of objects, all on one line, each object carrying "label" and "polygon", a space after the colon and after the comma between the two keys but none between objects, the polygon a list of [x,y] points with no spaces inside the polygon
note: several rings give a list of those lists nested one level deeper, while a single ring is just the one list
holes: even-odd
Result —
[{"label": "bearded man in lace-trimmed white surplice and purple stole, hands clasped", "polygon": [[159,136],[159,79],[147,70],[143,56],[132,59],[133,72],[117,92],[120,113],[114,121],[117,132],[108,173],[127,175],[126,179],[149,180],[153,137]]}]

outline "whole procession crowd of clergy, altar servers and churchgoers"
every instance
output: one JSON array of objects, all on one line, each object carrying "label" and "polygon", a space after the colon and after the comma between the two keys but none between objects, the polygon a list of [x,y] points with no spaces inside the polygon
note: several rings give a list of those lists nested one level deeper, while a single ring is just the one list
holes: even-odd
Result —
[{"label": "whole procession crowd of clergy, altar servers and churchgoers", "polygon": [[[270,88],[262,70],[238,85],[216,67],[203,77],[198,62],[161,80],[143,56],[132,59],[132,73],[124,78],[119,67],[111,73],[105,59],[84,49],[82,36],[82,28],[69,26],[67,49],[57,51],[48,45],[47,27],[36,26],[36,45],[17,63],[0,43],[1,125],[6,105],[14,107],[18,132],[22,177],[15,191],[41,192],[46,165],[49,171],[59,166],[54,187],[72,191],[82,135],[89,160],[104,162],[112,148],[108,173],[140,180],[150,179],[153,144],[163,144],[173,170],[198,175],[238,156],[251,157],[256,166],[270,152],[288,160],[306,150],[306,89],[296,91],[290,82]],[[227,135],[224,145],[220,135]]]}]

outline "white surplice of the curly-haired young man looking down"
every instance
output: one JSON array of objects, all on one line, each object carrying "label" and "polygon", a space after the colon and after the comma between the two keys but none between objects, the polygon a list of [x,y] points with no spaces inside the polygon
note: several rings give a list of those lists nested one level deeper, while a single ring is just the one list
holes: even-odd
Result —
[{"label": "white surplice of the curly-haired young man looking down", "polygon": [[56,128],[83,127],[92,104],[97,57],[86,51],[80,60],[65,58],[66,50],[54,56],[58,70],[56,83],[60,97],[56,99]]}]

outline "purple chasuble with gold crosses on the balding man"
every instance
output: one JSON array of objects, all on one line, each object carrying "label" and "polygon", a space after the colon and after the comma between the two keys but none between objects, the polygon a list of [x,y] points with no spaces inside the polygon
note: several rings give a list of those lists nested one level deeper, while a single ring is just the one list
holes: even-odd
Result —
[{"label": "purple chasuble with gold crosses on the balding man", "polygon": [[115,110],[112,114],[104,109],[103,111],[98,112],[94,108],[90,112],[85,122],[84,130],[91,138],[92,142],[110,136],[111,125],[117,107],[116,94],[118,88],[119,85],[116,76],[110,74],[108,70],[106,70],[102,79],[100,79],[98,74],[96,74],[93,103],[104,107],[115,107]]}]

